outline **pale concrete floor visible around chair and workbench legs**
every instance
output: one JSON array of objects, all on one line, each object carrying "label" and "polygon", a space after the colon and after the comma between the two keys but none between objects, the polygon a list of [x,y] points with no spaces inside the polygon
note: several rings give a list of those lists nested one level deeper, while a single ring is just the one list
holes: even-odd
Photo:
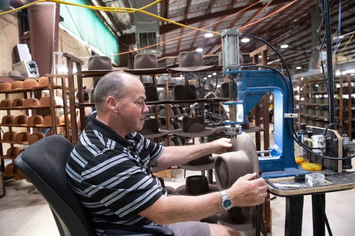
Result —
[{"label": "pale concrete floor visible around chair and workbench legs", "polygon": [[[270,146],[273,145],[272,139],[271,135]],[[355,161],[352,163],[355,166]],[[190,176],[200,173],[199,171],[187,171],[186,174]],[[165,185],[176,188],[185,184],[182,169],[173,170],[173,174],[177,177],[174,181],[165,179]],[[353,196],[355,196],[355,189],[326,194],[326,212],[333,235],[355,235]],[[311,197],[305,196],[302,225],[304,236],[312,235],[311,209]],[[272,233],[268,235],[284,235],[285,198],[277,197],[271,200],[271,210]],[[46,200],[31,183],[25,180],[6,183],[6,196],[0,199],[0,225],[2,236],[59,235]],[[245,234],[250,234],[250,232]]]}]

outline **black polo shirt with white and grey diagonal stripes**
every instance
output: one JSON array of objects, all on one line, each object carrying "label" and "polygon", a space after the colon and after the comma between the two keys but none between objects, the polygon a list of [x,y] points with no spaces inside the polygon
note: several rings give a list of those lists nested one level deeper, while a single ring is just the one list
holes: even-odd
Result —
[{"label": "black polo shirt with white and grey diagonal stripes", "polygon": [[96,120],[80,135],[66,165],[66,179],[89,213],[97,234],[118,225],[154,225],[137,215],[162,195],[151,161],[160,146],[135,132],[125,138]]}]

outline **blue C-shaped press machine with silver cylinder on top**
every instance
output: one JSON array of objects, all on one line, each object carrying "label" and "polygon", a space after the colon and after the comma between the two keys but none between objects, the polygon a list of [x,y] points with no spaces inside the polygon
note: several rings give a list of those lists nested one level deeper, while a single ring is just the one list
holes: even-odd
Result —
[{"label": "blue C-shaped press machine with silver cylinder on top", "polygon": [[[259,157],[262,177],[282,177],[306,174],[295,161],[294,140],[288,126],[292,125],[293,88],[289,79],[274,70],[244,70],[239,64],[239,30],[226,29],[222,32],[223,75],[229,79],[229,120],[226,134],[234,138],[242,132],[245,115],[268,92],[274,93],[274,140],[271,156]],[[255,66],[256,68],[258,66]],[[282,72],[279,70],[279,72]],[[289,114],[289,115],[287,115]],[[291,116],[286,118],[286,116]]]}]

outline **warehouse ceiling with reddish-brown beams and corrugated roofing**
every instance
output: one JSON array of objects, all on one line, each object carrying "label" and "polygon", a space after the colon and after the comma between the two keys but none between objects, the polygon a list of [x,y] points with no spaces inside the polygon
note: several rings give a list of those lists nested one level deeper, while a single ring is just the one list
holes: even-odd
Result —
[{"label": "warehouse ceiling with reddish-brown beams and corrugated roofing", "polygon": [[[133,8],[133,2],[128,0],[90,0],[90,2],[96,6]],[[221,20],[221,22],[205,29],[222,32],[227,28],[240,28],[258,21],[293,1],[264,0],[235,14],[257,2],[255,0],[165,0],[157,5],[157,10],[161,17],[196,28],[202,28]],[[319,0],[319,2],[323,1]],[[330,1],[333,50],[336,45],[338,48],[334,58],[338,62],[351,61],[355,59],[355,40],[349,40],[352,32],[355,31],[355,1],[341,1],[340,35],[350,34],[336,40],[334,36],[339,35],[339,3],[340,1]],[[98,14],[115,32],[121,43],[129,44],[132,49],[135,48],[133,14]],[[232,17],[222,20],[232,14],[234,14]],[[316,68],[319,64],[317,61],[312,62],[311,58],[312,50],[314,57],[314,54],[318,54],[321,45],[321,42],[316,39],[316,30],[321,19],[321,11],[316,0],[298,0],[290,7],[257,24],[241,28],[241,32],[258,36],[270,42],[286,59],[292,72],[299,73]],[[220,35],[214,34],[212,37],[205,37],[205,32],[191,33],[194,31],[193,29],[183,28],[165,21],[159,22],[159,31],[160,41],[182,36],[161,45],[159,60],[164,66],[177,66],[179,64],[177,56],[180,52],[193,51],[197,48],[203,49],[203,55],[208,55],[204,58],[205,65],[218,65],[218,54],[221,52]],[[188,35],[184,36],[185,34]],[[321,28],[320,38],[323,39],[323,36],[324,27]],[[280,45],[282,44],[289,46],[286,49],[281,49]],[[251,63],[252,59],[248,54],[262,45],[254,39],[249,42],[241,42],[240,49],[243,53],[244,63]],[[324,47],[325,45],[326,43]],[[268,62],[271,66],[281,67],[277,56],[271,50],[268,51]],[[301,69],[296,69],[296,67],[301,67]]]}]

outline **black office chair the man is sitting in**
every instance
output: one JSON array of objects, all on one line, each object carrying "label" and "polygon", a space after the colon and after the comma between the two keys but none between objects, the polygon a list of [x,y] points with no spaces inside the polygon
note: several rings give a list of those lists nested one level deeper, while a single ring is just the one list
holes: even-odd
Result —
[{"label": "black office chair the man is sitting in", "polygon": [[[74,146],[66,138],[50,135],[30,145],[15,165],[47,200],[60,235],[96,235],[79,200],[65,180],[65,166]],[[120,226],[102,235],[173,235],[155,225]]]}]

